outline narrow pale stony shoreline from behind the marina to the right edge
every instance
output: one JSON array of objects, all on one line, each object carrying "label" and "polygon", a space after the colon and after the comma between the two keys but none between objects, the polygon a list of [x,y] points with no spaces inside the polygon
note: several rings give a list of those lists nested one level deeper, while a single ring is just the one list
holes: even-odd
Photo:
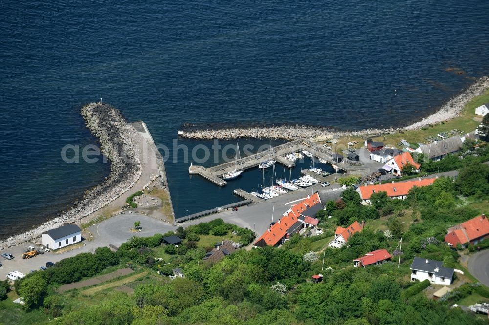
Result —
[{"label": "narrow pale stony shoreline from behind the marina to the right edge", "polygon": [[306,125],[252,126],[217,129],[191,129],[178,131],[178,135],[188,139],[235,139],[235,138],[274,138],[283,140],[327,139],[333,135],[363,136],[372,134],[392,133],[398,130],[415,130],[430,124],[437,124],[457,117],[474,96],[482,95],[489,88],[489,77],[481,77],[461,94],[450,99],[437,112],[403,128],[364,129],[356,131],[340,131],[325,127]]}]

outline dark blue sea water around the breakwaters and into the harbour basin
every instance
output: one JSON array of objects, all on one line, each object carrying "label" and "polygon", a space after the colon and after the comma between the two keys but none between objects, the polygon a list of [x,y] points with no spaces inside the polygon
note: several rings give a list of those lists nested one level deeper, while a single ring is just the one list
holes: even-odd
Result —
[{"label": "dark blue sea water around the breakwaters and into the harbour basin", "polygon": [[[96,143],[85,103],[103,97],[169,146],[184,122],[399,126],[489,74],[488,12],[488,1],[456,0],[4,3],[0,238],[108,174],[107,163],[61,159],[66,144]],[[234,188],[262,181],[252,171],[217,188],[172,160],[177,215],[237,201]]]}]

